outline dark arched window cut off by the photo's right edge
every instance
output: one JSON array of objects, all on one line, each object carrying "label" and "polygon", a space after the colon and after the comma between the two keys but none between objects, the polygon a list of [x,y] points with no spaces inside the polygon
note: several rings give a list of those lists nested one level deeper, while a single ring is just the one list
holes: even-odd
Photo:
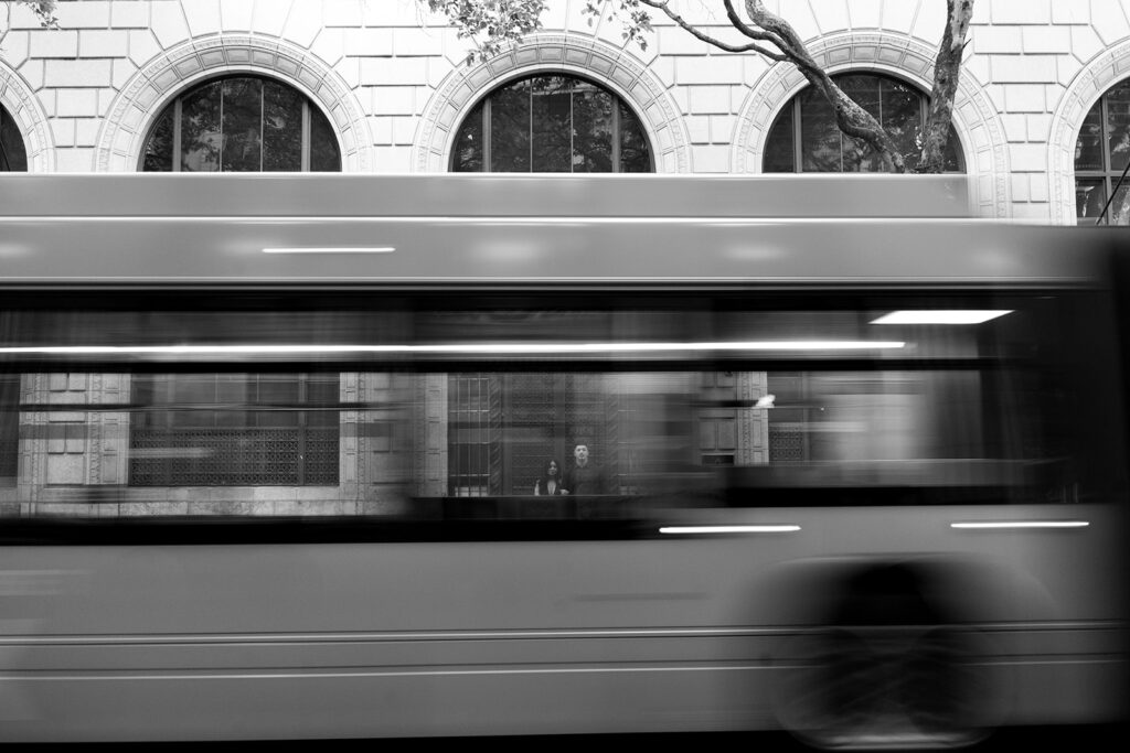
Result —
[{"label": "dark arched window cut off by the photo's right edge", "polygon": [[[1075,142],[1075,205],[1094,225],[1130,160],[1130,79],[1109,89],[1087,113]],[[1104,225],[1130,225],[1130,180],[1114,193]]]}]

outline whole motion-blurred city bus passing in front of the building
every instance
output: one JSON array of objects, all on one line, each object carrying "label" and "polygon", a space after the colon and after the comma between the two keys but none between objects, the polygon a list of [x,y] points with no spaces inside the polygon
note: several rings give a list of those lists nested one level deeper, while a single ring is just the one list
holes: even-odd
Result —
[{"label": "whole motion-blurred city bus passing in front of the building", "polygon": [[1127,239],[968,194],[0,176],[0,737],[1124,721]]}]

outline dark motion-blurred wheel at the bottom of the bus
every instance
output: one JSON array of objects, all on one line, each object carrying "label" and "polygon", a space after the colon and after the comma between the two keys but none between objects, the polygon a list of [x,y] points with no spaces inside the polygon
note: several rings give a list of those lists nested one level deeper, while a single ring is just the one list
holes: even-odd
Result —
[{"label": "dark motion-blurred wheel at the bottom of the bus", "polygon": [[832,629],[783,656],[779,723],[822,750],[942,750],[985,737],[963,637],[946,630]]}]

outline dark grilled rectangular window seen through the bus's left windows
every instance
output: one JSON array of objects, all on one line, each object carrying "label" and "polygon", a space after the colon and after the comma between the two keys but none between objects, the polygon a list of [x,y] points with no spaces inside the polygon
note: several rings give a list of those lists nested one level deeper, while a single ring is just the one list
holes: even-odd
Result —
[{"label": "dark grilled rectangular window seen through the bus's left windows", "polygon": [[133,378],[130,484],[337,485],[338,375]]}]

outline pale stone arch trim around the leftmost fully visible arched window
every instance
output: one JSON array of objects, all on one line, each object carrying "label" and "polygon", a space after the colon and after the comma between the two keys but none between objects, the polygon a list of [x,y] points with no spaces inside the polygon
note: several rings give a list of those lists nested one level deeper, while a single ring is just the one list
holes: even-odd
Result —
[{"label": "pale stone arch trim around the leftmost fully visible arched window", "polygon": [[236,72],[276,78],[305,94],[334,126],[342,172],[373,168],[364,110],[332,68],[282,40],[225,34],[167,50],[127,81],[98,132],[95,172],[136,172],[145,137],[169,100],[199,81]]}]

